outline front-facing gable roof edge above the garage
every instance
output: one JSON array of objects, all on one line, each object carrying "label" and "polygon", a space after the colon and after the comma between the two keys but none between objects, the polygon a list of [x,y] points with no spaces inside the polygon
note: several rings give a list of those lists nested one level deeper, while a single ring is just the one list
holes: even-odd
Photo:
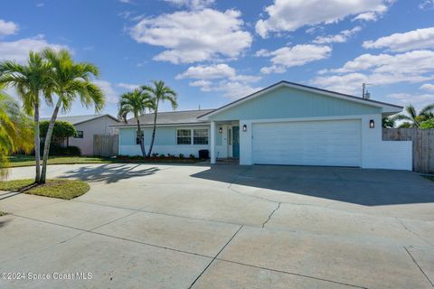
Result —
[{"label": "front-facing gable roof edge above the garage", "polygon": [[292,89],[299,89],[299,90],[304,90],[304,91],[308,91],[308,92],[314,92],[314,93],[321,94],[321,95],[324,95],[327,97],[346,99],[349,101],[354,101],[357,103],[362,103],[364,105],[373,106],[373,107],[382,107],[383,113],[395,114],[395,113],[401,112],[401,110],[403,108],[400,106],[396,106],[396,105],[393,105],[390,103],[385,103],[385,102],[381,102],[381,101],[377,101],[377,100],[358,98],[358,97],[355,97],[352,95],[348,95],[348,94],[344,94],[344,93],[340,93],[340,92],[335,92],[332,90],[318,89],[318,88],[310,87],[310,86],[307,86],[304,84],[299,84],[299,83],[295,83],[295,82],[289,82],[286,80],[281,80],[275,84],[270,85],[269,87],[267,87],[265,89],[260,89],[260,90],[254,92],[254,93],[252,93],[252,94],[250,94],[244,98],[237,99],[237,100],[232,101],[231,103],[229,103],[225,106],[216,108],[216,109],[212,110],[211,112],[205,113],[202,116],[200,116],[199,118],[211,117],[212,115],[215,115],[215,114],[217,114],[223,110],[226,110],[230,107],[235,107],[235,106],[241,105],[241,103],[243,103],[247,100],[257,98],[257,97],[269,92],[270,90],[278,89],[281,87],[288,87],[288,88],[292,88]]}]

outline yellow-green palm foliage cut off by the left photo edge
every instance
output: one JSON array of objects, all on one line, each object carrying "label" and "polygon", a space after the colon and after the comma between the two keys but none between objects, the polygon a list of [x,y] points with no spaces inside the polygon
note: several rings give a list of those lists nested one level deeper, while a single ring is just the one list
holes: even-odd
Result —
[{"label": "yellow-green palm foliage cut off by the left photo edge", "polygon": [[[0,88],[1,89],[1,88]],[[33,149],[33,122],[13,98],[0,90],[0,180],[7,176],[9,154]]]}]

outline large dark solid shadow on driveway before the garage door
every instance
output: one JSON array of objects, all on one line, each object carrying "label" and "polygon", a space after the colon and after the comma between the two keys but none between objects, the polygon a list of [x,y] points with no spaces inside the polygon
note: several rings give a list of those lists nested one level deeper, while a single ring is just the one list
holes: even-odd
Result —
[{"label": "large dark solid shadow on driveway before the garage door", "polygon": [[434,203],[434,182],[418,173],[344,167],[212,165],[194,178],[286,191],[363,206]]}]

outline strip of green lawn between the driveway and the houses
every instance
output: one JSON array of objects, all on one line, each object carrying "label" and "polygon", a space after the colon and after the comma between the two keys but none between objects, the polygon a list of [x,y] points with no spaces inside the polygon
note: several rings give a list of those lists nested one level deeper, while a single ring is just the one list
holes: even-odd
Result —
[{"label": "strip of green lawn between the driveway and the houses", "polygon": [[[11,167],[34,165],[33,155],[13,155],[9,157]],[[98,156],[50,156],[48,164],[74,164],[74,163],[197,163],[200,160],[192,158],[175,157],[153,157],[145,159],[137,156],[121,156],[118,158],[107,158]]]}]

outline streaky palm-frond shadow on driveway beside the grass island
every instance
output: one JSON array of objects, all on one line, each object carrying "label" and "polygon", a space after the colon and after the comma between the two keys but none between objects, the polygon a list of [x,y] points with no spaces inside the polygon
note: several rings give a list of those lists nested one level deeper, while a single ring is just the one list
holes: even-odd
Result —
[{"label": "streaky palm-frond shadow on driveway beside the grass island", "polygon": [[86,182],[118,182],[136,177],[143,177],[158,172],[157,167],[144,167],[137,169],[140,164],[103,164],[99,166],[82,166],[78,169],[64,172],[59,178],[74,178]]}]

